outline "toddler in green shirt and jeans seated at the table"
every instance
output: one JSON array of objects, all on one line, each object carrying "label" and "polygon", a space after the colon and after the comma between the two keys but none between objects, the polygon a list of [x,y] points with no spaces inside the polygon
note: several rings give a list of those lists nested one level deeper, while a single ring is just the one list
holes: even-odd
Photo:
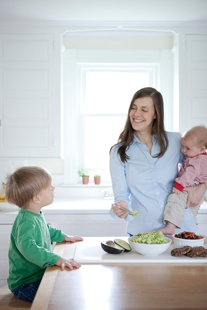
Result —
[{"label": "toddler in green shirt and jeans seated at the table", "polygon": [[7,176],[6,199],[20,207],[11,230],[8,287],[32,302],[47,266],[73,269],[80,264],[52,252],[51,241],[79,241],[46,223],[41,209],[54,200],[51,174],[41,167],[20,167]]}]

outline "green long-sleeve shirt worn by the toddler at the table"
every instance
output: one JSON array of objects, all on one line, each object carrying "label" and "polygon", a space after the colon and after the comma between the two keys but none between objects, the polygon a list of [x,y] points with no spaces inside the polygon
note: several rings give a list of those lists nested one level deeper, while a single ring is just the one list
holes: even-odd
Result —
[{"label": "green long-sleeve shirt worn by the toddler at the table", "polygon": [[38,281],[46,267],[54,265],[60,258],[52,252],[51,241],[62,242],[65,236],[61,230],[46,223],[42,211],[36,214],[21,209],[11,229],[9,289]]}]

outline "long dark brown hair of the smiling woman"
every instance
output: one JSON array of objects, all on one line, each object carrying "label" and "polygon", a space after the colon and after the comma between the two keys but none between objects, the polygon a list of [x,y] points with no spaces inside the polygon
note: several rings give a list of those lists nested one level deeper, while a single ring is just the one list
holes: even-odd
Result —
[{"label": "long dark brown hair of the smiling woman", "polygon": [[121,143],[121,146],[118,148],[118,154],[122,162],[127,162],[127,159],[129,159],[128,155],[126,155],[126,151],[128,150],[130,144],[133,142],[134,131],[130,122],[129,112],[131,111],[134,101],[142,97],[151,97],[155,105],[156,118],[153,121],[152,134],[156,135],[157,137],[158,143],[160,145],[160,153],[153,157],[162,157],[168,148],[168,137],[164,129],[164,106],[162,95],[155,88],[145,87],[133,95],[129,106],[125,127],[119,135],[118,143]]}]

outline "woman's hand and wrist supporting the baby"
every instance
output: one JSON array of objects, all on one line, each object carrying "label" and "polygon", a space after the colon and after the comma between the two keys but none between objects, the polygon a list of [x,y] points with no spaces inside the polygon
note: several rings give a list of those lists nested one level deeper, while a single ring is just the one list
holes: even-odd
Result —
[{"label": "woman's hand and wrist supporting the baby", "polygon": [[187,186],[183,189],[188,193],[187,195],[187,204],[186,209],[191,207],[195,207],[202,200],[205,190],[207,188],[207,183],[202,183],[196,186]]}]

